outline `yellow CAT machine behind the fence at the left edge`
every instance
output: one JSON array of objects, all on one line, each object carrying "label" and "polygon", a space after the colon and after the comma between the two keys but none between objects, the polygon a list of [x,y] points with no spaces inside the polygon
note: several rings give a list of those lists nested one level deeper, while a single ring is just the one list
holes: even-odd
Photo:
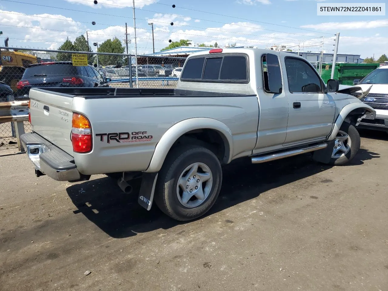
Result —
[{"label": "yellow CAT machine behind the fence at the left edge", "polygon": [[[8,47],[8,37],[4,40],[5,47]],[[0,49],[0,81],[9,85],[16,92],[16,84],[21,80],[26,66],[38,63],[35,55],[24,54],[17,50]]]}]

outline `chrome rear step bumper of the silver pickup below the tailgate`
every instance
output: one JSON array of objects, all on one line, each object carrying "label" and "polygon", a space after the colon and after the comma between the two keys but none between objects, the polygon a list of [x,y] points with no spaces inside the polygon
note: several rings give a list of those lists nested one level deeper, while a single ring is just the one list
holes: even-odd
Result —
[{"label": "chrome rear step bumper of the silver pickup below the tailgate", "polygon": [[35,165],[35,173],[40,171],[57,181],[76,181],[86,178],[77,170],[72,156],[37,133],[24,133],[20,140],[28,158]]}]

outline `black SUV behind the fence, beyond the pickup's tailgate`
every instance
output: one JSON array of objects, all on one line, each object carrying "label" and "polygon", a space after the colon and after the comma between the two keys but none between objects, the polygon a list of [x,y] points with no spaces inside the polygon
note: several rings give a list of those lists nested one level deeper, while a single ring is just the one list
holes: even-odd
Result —
[{"label": "black SUV behind the fence, beyond the pickup's tailgate", "polygon": [[42,62],[29,65],[17,82],[17,97],[28,97],[32,87],[109,87],[92,66],[73,66],[72,62]]}]

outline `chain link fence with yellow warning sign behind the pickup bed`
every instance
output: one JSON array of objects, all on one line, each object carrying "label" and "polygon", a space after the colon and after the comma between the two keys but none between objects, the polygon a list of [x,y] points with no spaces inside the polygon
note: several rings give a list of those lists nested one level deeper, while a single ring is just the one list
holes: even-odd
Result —
[{"label": "chain link fence with yellow warning sign behind the pickup bed", "polygon": [[[185,58],[0,47],[0,102],[28,100],[32,87],[176,88]],[[24,123],[26,132],[31,125]],[[0,149],[15,147],[0,123]],[[17,144],[16,144],[17,147]]]}]

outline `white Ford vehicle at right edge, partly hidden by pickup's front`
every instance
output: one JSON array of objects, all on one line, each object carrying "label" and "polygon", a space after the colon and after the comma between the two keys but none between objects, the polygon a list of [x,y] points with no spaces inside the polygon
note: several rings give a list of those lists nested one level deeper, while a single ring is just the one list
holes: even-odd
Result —
[{"label": "white Ford vehicle at right edge, partly hidden by pickup's front", "polygon": [[362,90],[372,85],[369,94],[361,101],[376,110],[374,120],[362,120],[358,127],[388,132],[388,64],[375,69],[362,80],[354,80],[353,84]]}]

